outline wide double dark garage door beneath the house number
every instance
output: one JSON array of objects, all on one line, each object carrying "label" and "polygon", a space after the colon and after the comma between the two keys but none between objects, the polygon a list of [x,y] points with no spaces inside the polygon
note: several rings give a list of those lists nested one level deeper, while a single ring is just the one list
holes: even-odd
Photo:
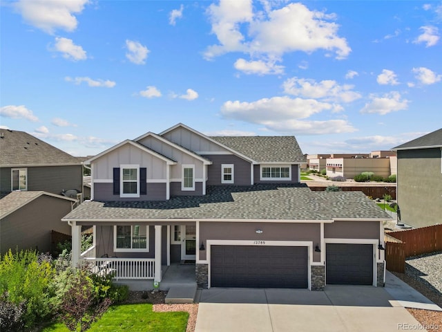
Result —
[{"label": "wide double dark garage door beneath the house number", "polygon": [[211,246],[211,287],[307,288],[307,247]]}]

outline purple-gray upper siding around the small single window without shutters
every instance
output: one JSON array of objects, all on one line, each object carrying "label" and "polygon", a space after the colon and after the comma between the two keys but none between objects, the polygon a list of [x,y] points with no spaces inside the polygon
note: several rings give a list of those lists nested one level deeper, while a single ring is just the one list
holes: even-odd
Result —
[{"label": "purple-gray upper siding around the small single window without shutters", "polygon": [[233,164],[234,185],[250,185],[250,163],[233,154],[203,156],[211,160],[212,165],[207,167],[207,185],[222,185],[221,165]]}]

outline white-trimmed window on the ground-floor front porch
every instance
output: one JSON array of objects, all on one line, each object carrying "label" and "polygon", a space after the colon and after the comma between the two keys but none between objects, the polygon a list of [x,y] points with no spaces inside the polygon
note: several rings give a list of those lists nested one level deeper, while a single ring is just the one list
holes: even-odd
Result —
[{"label": "white-trimmed window on the ground-floor front porch", "polygon": [[114,252],[148,252],[149,226],[114,226]]}]

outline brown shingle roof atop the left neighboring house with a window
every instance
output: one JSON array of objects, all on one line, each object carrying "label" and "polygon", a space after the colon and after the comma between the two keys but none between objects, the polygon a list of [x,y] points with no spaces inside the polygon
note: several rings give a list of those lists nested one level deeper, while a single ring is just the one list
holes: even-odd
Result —
[{"label": "brown shingle roof atop the left neighboring house with a window", "polygon": [[22,165],[81,165],[81,162],[29,133],[0,129],[0,166]]}]

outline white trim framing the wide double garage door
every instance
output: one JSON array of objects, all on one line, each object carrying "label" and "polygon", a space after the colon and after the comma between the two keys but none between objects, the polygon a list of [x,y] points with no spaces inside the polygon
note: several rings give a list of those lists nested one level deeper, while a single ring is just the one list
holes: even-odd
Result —
[{"label": "white trim framing the wide double garage door", "polygon": [[[197,228],[198,230],[198,228]],[[197,236],[198,239],[198,236]],[[312,241],[265,241],[265,240],[207,240],[206,261],[197,261],[197,264],[208,264],[209,275],[208,288],[211,287],[211,246],[280,246],[280,247],[307,247],[307,283],[311,291],[311,263],[313,263],[313,242]],[[198,250],[197,250],[198,251]]]}]

